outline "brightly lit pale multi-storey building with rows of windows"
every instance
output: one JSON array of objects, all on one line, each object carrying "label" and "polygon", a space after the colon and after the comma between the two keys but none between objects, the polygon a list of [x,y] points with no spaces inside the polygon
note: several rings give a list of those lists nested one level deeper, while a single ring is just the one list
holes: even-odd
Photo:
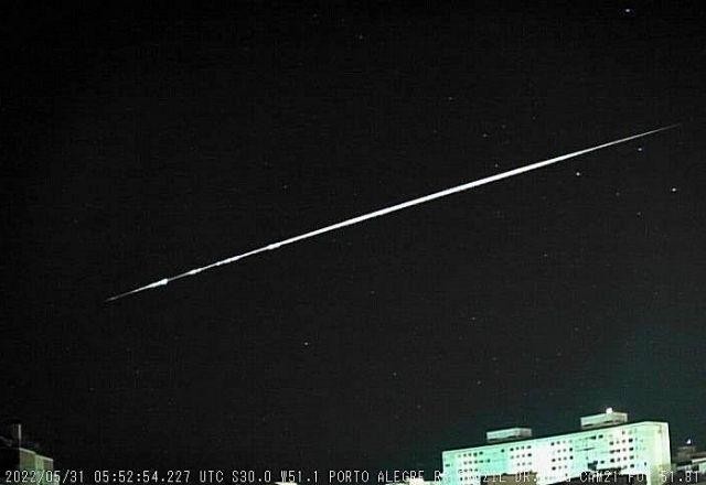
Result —
[{"label": "brightly lit pale multi-storey building with rows of windows", "polygon": [[581,418],[581,430],[532,438],[532,430],[514,428],[490,431],[488,444],[445,451],[445,485],[481,485],[488,476],[536,474],[546,485],[595,472],[617,471],[644,475],[645,485],[663,482],[671,468],[670,433],[665,422],[628,422],[612,409]]}]

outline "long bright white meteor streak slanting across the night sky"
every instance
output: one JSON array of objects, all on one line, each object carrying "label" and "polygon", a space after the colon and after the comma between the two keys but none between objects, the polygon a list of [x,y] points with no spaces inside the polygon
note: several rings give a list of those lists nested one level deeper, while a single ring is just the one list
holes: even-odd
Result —
[{"label": "long bright white meteor streak slanting across the night sky", "polygon": [[509,179],[511,176],[520,175],[521,173],[530,172],[532,170],[542,169],[543,166],[552,165],[554,163],[561,162],[564,160],[568,160],[568,159],[573,159],[573,158],[576,158],[576,157],[580,157],[580,155],[582,155],[585,153],[590,153],[590,152],[596,151],[596,150],[600,150],[600,149],[603,149],[603,148],[612,147],[612,146],[619,144],[619,143],[624,143],[627,141],[635,140],[635,139],[642,138],[642,137],[648,137],[650,134],[659,133],[660,131],[665,131],[665,130],[675,128],[678,125],[671,125],[668,127],[659,128],[656,130],[645,131],[644,133],[633,134],[633,136],[627,137],[627,138],[621,138],[620,140],[609,141],[609,142],[603,143],[603,144],[599,144],[599,146],[596,146],[596,147],[591,147],[591,148],[587,148],[587,149],[584,149],[584,150],[575,151],[575,152],[571,152],[571,153],[564,154],[564,155],[555,157],[553,159],[543,160],[541,162],[531,163],[528,165],[520,166],[517,169],[509,170],[506,172],[498,173],[495,175],[486,176],[484,179],[480,179],[480,180],[477,180],[477,181],[473,181],[473,182],[467,182],[467,183],[461,184],[461,185],[456,185],[456,186],[450,187],[450,188],[445,188],[442,191],[435,192],[432,194],[428,194],[428,195],[424,195],[421,197],[413,198],[411,201],[402,202],[399,204],[391,205],[389,207],[384,207],[384,208],[381,208],[381,209],[377,209],[377,211],[373,211],[371,213],[363,214],[363,215],[360,215],[357,217],[353,217],[353,218],[350,218],[350,219],[345,219],[345,220],[342,220],[340,223],[322,227],[320,229],[314,229],[314,230],[311,230],[309,233],[300,234],[299,236],[293,236],[293,237],[290,237],[288,239],[282,239],[282,240],[277,241],[277,242],[271,242],[271,244],[269,244],[267,246],[263,246],[261,248],[253,249],[250,251],[243,252],[242,255],[232,256],[229,258],[222,259],[222,260],[216,261],[216,262],[212,262],[211,265],[202,266],[201,268],[194,268],[194,269],[191,269],[189,271],[175,274],[173,277],[163,278],[163,279],[161,279],[159,281],[154,281],[152,283],[146,284],[146,285],[140,287],[140,288],[136,288],[135,290],[126,291],[125,293],[119,293],[119,294],[116,294],[114,297],[110,297],[109,299],[106,300],[106,302],[116,301],[116,300],[119,300],[121,298],[129,297],[130,294],[140,293],[140,292],[146,291],[146,290],[151,290],[151,289],[154,289],[154,288],[164,287],[164,285],[169,284],[172,281],[180,280],[180,279],[186,278],[186,277],[193,277],[193,276],[199,274],[199,273],[201,273],[203,271],[207,271],[210,269],[213,269],[213,268],[216,268],[216,267],[220,267],[220,266],[231,265],[232,262],[239,261],[240,259],[245,259],[245,258],[248,258],[250,256],[258,255],[260,252],[279,249],[282,246],[287,246],[287,245],[290,245],[290,244],[293,244],[293,242],[298,242],[298,241],[303,240],[303,239],[309,239],[311,237],[319,236],[320,234],[330,233],[332,230],[341,229],[342,227],[352,226],[354,224],[359,224],[359,223],[362,223],[364,220],[373,219],[375,217],[381,217],[381,216],[384,216],[384,215],[387,215],[387,214],[391,214],[391,213],[394,213],[394,212],[397,212],[397,211],[402,211],[403,208],[411,207],[414,205],[424,204],[426,202],[434,201],[436,198],[446,197],[447,195],[456,194],[458,192],[468,191],[469,188],[473,188],[473,187],[478,187],[478,186],[481,186],[481,185],[485,185],[485,184],[489,184],[489,183],[492,183],[492,182],[496,182],[499,180]]}]

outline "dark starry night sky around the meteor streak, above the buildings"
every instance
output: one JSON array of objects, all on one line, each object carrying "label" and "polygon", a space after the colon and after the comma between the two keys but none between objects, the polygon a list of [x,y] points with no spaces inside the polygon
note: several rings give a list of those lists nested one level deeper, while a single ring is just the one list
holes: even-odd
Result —
[{"label": "dark starry night sky around the meteor streak, above the buildings", "polygon": [[705,442],[699,2],[289,3],[6,4],[0,418],[58,468],[435,468],[606,406]]}]

